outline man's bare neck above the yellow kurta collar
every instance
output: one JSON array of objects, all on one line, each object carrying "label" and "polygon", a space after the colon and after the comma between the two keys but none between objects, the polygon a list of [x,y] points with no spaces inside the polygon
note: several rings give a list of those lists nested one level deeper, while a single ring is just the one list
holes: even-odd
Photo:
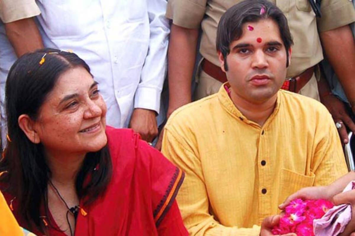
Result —
[{"label": "man's bare neck above the yellow kurta collar", "polygon": [[248,120],[258,123],[261,127],[264,125],[269,116],[273,113],[277,100],[277,93],[262,103],[252,103],[244,98],[239,97],[231,90],[231,99],[240,112],[247,117]]}]

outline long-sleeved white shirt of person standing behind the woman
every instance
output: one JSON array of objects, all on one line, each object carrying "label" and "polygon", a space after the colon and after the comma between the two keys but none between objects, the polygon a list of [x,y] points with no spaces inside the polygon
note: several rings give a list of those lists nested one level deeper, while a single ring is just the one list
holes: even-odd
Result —
[{"label": "long-sleeved white shirt of person standing behind the woman", "polygon": [[159,113],[170,33],[166,0],[37,0],[45,47],[72,50],[91,68],[107,124],[127,127],[134,108]]}]

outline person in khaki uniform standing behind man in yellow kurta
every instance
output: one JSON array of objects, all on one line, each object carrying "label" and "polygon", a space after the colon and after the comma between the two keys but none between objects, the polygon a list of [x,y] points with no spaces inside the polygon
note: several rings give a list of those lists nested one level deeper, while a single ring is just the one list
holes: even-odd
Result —
[{"label": "person in khaki uniform standing behind man in yellow kurta", "polygon": [[[200,66],[200,73],[197,74],[198,86],[195,99],[217,92],[222,82],[226,81],[223,71],[218,68],[219,62],[215,53],[217,24],[223,13],[240,1],[169,0],[166,17],[172,19],[173,24],[168,52],[168,115],[181,105],[191,102],[190,85],[200,27],[202,28],[200,52],[204,59]],[[314,66],[323,59],[321,39],[323,48],[343,87],[346,87],[355,102],[353,83],[355,67],[349,66],[355,63],[355,43],[348,26],[355,21],[355,11],[351,1],[322,0],[320,18],[316,18],[310,0],[270,1],[285,13],[295,42],[294,56],[286,78],[299,77],[297,79],[299,85],[296,89],[294,86],[285,86],[285,88],[317,100],[323,95],[318,93],[316,76],[313,73],[313,71],[317,72],[317,67]],[[332,104],[328,105],[330,106]],[[351,119],[343,119],[345,116],[336,115],[339,110],[337,106],[334,112],[331,110],[332,115],[337,118],[335,122],[344,121],[355,131]],[[342,136],[342,140],[344,139],[347,139],[346,135]]]}]

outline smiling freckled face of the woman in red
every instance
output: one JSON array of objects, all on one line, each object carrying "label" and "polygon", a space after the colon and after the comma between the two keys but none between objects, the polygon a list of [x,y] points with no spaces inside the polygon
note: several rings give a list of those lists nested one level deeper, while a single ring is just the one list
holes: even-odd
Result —
[{"label": "smiling freckled face of the woman in red", "polygon": [[97,82],[75,67],[59,76],[34,125],[47,153],[85,154],[107,143],[106,110]]}]

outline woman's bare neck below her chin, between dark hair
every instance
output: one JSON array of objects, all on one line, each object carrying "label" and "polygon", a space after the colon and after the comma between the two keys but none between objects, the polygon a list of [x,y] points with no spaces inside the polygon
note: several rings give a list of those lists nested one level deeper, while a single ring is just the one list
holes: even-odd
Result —
[{"label": "woman's bare neck below her chin, between dark hair", "polygon": [[47,155],[51,181],[57,186],[75,186],[85,155]]}]

